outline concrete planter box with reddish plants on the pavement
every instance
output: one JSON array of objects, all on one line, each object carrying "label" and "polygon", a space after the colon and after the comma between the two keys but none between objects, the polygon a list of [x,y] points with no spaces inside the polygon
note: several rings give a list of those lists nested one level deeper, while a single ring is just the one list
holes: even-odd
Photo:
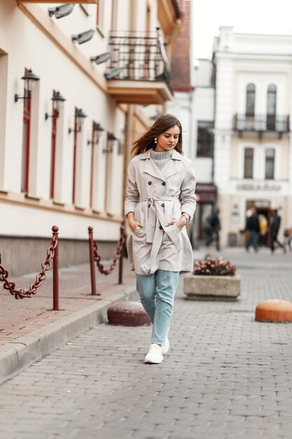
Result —
[{"label": "concrete planter box with reddish plants on the pavement", "polygon": [[188,299],[236,299],[240,295],[240,276],[235,265],[222,257],[195,262],[194,273],[183,279]]}]

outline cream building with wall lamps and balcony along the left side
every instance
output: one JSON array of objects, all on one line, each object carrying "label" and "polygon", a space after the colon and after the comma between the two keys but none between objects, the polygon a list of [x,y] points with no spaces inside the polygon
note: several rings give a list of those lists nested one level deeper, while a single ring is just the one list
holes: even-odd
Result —
[{"label": "cream building with wall lamps and balcony along the left side", "polygon": [[[179,0],[0,4],[0,248],[39,268],[60,227],[61,263],[88,260],[88,226],[111,257],[135,135],[172,99]],[[25,256],[23,256],[25,254]]]}]

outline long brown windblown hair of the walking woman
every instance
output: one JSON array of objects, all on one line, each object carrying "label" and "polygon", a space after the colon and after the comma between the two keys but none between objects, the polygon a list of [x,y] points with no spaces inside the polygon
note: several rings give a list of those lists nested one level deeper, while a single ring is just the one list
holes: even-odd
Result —
[{"label": "long brown windblown hair of the walking woman", "polygon": [[169,128],[173,126],[179,127],[179,140],[176,144],[176,151],[180,154],[183,154],[183,139],[181,135],[181,122],[179,119],[176,119],[172,114],[164,114],[163,116],[158,117],[156,121],[153,123],[153,126],[148,128],[146,133],[141,134],[137,140],[135,140],[132,144],[132,157],[137,156],[143,152],[148,151],[148,149],[152,149],[155,147],[154,139],[158,137],[158,135],[165,133]]}]

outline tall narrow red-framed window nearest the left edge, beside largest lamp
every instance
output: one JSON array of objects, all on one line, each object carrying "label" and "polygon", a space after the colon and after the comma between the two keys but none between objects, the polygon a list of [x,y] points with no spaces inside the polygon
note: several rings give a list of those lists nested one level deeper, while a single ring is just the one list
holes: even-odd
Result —
[{"label": "tall narrow red-framed window nearest the left edge, beside largest lamp", "polygon": [[[25,73],[28,70],[25,69]],[[27,97],[28,90],[25,88],[24,96]],[[29,142],[31,123],[32,100],[25,99],[23,104],[23,128],[22,128],[22,169],[21,169],[21,191],[29,191]]]}]

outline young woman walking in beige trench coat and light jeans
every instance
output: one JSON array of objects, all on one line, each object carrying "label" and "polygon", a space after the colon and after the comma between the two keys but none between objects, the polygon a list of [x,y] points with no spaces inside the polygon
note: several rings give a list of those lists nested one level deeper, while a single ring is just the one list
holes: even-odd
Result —
[{"label": "young woman walking in beige trench coat and light jeans", "polygon": [[183,156],[181,123],[171,114],[158,118],[132,147],[127,173],[125,215],[130,267],[141,304],[153,324],[145,363],[162,363],[181,271],[193,271],[186,224],[195,212],[195,171]]}]

